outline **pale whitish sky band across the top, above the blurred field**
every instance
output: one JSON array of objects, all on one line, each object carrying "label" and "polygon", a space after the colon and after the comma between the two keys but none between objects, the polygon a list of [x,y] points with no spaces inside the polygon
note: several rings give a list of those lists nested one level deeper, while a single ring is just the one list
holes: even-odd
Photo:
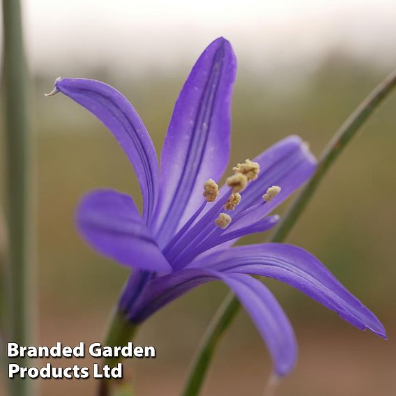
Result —
[{"label": "pale whitish sky band across the top, above the blurred field", "polygon": [[252,69],[314,65],[334,49],[396,61],[395,0],[24,0],[31,65],[142,72],[191,63],[225,36]]}]

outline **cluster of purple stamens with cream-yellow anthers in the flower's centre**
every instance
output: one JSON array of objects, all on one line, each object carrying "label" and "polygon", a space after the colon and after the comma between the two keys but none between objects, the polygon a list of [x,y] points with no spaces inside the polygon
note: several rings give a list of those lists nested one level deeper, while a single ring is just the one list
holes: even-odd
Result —
[{"label": "cluster of purple stamens with cream-yellow anthers in the flower's centre", "polygon": [[[280,192],[280,187],[273,185],[266,190],[266,193],[263,195],[264,201],[260,203],[257,201],[250,203],[252,199],[248,195],[248,206],[241,206],[239,210],[236,210],[236,206],[243,202],[243,194],[241,195],[239,192],[245,190],[248,187],[248,183],[255,181],[259,177],[260,166],[257,162],[246,160],[241,164],[237,164],[233,170],[234,174],[229,176],[226,181],[229,190],[219,199],[220,191],[218,184],[212,178],[204,183],[202,195],[205,201],[163,250],[165,257],[172,263],[174,270],[184,268],[198,254],[213,248],[213,246],[248,234],[248,227],[242,224],[238,228],[237,223],[242,218],[246,218],[246,216],[251,217],[254,211],[257,211],[266,202],[271,201]],[[254,188],[255,190],[257,189]],[[247,192],[246,194],[249,193]],[[259,191],[253,192],[253,194],[259,199]],[[213,204],[211,208],[208,208],[207,204],[210,202]],[[207,210],[201,215],[204,208]],[[228,213],[224,213],[224,211]],[[234,211],[235,213],[233,213]],[[260,219],[256,220],[253,218],[251,221],[253,225],[256,224],[252,227],[252,230],[259,231],[261,225]],[[229,227],[231,222],[234,222],[234,229],[224,231]]]}]

